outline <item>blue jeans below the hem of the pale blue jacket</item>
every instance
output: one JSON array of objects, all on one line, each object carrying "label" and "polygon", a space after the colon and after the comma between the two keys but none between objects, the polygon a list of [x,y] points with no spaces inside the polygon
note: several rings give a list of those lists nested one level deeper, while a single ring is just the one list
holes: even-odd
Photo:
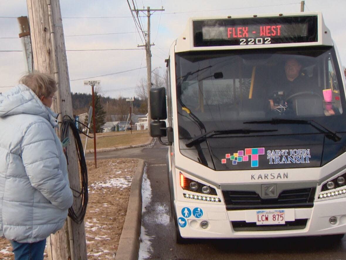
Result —
[{"label": "blue jeans below the hem of the pale blue jacket", "polygon": [[11,241],[15,254],[15,260],[43,260],[43,253],[46,246],[46,240],[35,243],[18,243]]}]

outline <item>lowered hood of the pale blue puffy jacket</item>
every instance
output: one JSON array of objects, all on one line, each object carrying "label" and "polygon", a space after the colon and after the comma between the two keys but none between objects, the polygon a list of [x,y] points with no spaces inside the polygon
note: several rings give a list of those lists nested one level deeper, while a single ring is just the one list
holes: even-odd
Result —
[{"label": "lowered hood of the pale blue puffy jacket", "polygon": [[27,86],[20,84],[0,95],[0,117],[17,114],[42,116],[57,127],[57,113],[46,107]]}]

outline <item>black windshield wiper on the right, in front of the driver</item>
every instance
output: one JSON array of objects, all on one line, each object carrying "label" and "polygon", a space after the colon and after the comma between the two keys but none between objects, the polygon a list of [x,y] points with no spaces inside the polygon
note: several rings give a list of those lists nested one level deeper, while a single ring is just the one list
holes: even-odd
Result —
[{"label": "black windshield wiper on the right, in front of the driver", "polygon": [[263,121],[248,121],[244,122],[244,124],[309,124],[313,128],[317,129],[321,133],[324,133],[325,136],[333,140],[335,142],[340,141],[341,137],[336,133],[333,132],[320,123],[317,123],[314,120],[295,120],[295,119],[281,119],[281,118],[273,118],[272,120],[263,120]]}]

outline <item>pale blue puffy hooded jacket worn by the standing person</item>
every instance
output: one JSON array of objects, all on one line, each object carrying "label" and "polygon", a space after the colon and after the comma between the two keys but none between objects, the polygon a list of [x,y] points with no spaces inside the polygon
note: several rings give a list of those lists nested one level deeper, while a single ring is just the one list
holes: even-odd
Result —
[{"label": "pale blue puffy hooded jacket worn by the standing person", "polygon": [[8,240],[45,239],[73,203],[56,116],[25,85],[0,95],[0,236]]}]

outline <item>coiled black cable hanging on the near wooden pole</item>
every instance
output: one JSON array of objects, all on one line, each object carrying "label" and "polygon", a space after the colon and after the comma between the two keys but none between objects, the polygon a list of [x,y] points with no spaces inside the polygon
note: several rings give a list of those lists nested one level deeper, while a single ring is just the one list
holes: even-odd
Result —
[{"label": "coiled black cable hanging on the near wooden pole", "polygon": [[[80,205],[78,207],[78,210],[75,211],[73,209],[73,206],[69,208],[69,217],[76,223],[80,224],[85,216],[86,213],[86,206],[88,205],[88,172],[86,169],[86,163],[85,163],[85,158],[84,158],[84,152],[83,152],[83,145],[81,138],[79,136],[79,130],[76,128],[74,120],[68,116],[65,115],[63,118],[63,122],[61,124],[61,129],[60,129],[60,140],[63,141],[66,137],[69,136],[69,129],[71,128],[72,134],[75,140],[75,145],[76,145],[76,150],[77,150],[77,155],[78,155],[78,160],[79,160],[79,165],[81,169],[81,190],[75,190],[71,188],[73,193],[78,193],[78,196],[73,194],[75,198],[80,198]],[[67,164],[69,163],[68,157],[67,157],[67,151],[66,151],[66,160]]]}]

